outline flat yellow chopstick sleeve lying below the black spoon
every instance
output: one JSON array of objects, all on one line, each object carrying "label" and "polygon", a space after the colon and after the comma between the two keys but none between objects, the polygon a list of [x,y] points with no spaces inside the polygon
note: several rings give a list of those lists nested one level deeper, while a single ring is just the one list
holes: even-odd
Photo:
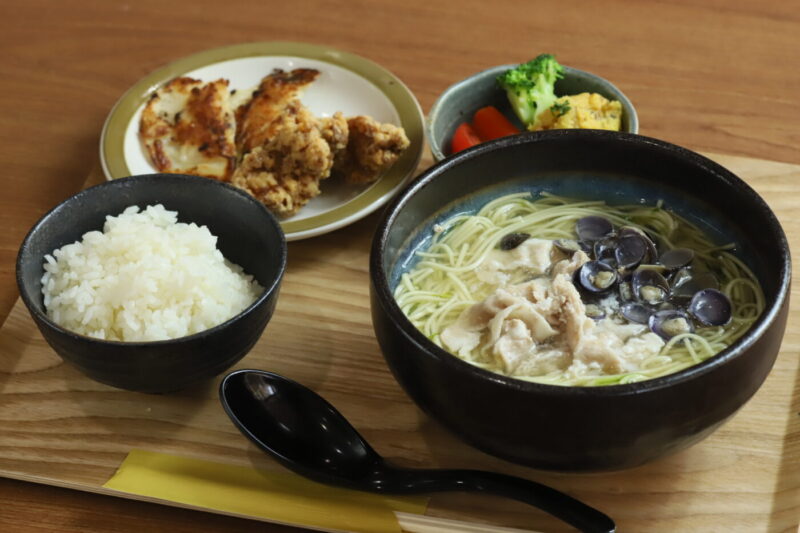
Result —
[{"label": "flat yellow chopstick sleeve lying below the black spoon", "polygon": [[103,487],[273,522],[357,533],[400,533],[394,511],[422,514],[427,499],[329,487],[268,472],[144,450],[131,451]]}]

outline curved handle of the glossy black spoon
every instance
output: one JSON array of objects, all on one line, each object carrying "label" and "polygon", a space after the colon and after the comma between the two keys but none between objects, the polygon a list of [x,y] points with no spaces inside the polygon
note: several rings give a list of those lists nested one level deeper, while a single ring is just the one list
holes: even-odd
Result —
[{"label": "curved handle of the glossy black spoon", "polygon": [[[480,470],[397,470],[398,492],[486,492],[537,507],[590,533],[614,533],[616,525],[597,509],[551,487],[519,477]],[[395,485],[396,483],[396,485]]]}]

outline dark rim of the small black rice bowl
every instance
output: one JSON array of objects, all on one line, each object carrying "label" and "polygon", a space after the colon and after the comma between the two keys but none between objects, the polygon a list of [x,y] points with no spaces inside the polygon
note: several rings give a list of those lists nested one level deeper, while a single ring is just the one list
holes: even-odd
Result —
[{"label": "dark rim of the small black rice bowl", "polygon": [[[127,186],[131,183],[149,183],[159,180],[173,180],[177,182],[183,183],[203,183],[206,185],[210,185],[211,187],[221,187],[223,189],[227,189],[229,192],[237,195],[238,197],[242,198],[243,200],[256,205],[259,210],[263,214],[266,215],[267,223],[272,226],[272,229],[275,235],[278,237],[278,244],[280,247],[279,250],[279,265],[278,265],[278,275],[275,276],[274,279],[270,280],[268,286],[264,287],[264,291],[259,295],[256,300],[243,309],[241,312],[237,313],[233,317],[229,318],[225,322],[221,324],[217,324],[216,326],[203,330],[198,331],[197,333],[193,333],[191,335],[185,335],[183,337],[177,337],[174,339],[166,339],[166,340],[159,340],[159,341],[133,341],[133,342],[125,342],[125,341],[115,341],[115,340],[106,340],[106,339],[98,339],[95,337],[89,337],[88,335],[82,335],[80,333],[76,333],[69,329],[66,329],[55,322],[53,322],[50,317],[47,316],[46,313],[43,313],[37,305],[34,304],[28,297],[27,291],[23,290],[24,281],[22,276],[22,261],[23,261],[23,252],[29,246],[30,241],[33,239],[34,235],[37,231],[41,228],[46,226],[49,223],[50,218],[57,212],[63,209],[69,209],[69,206],[75,202],[80,201],[80,199],[89,196],[91,194],[96,193],[98,189],[103,188],[122,188]],[[189,185],[191,186],[191,185]],[[112,214],[112,213],[110,213]],[[63,200],[55,207],[50,209],[47,213],[45,213],[28,231],[25,235],[25,238],[22,240],[22,244],[19,247],[19,251],[17,252],[17,261],[16,261],[16,278],[17,278],[17,287],[19,289],[20,297],[22,298],[25,307],[28,308],[28,311],[34,316],[37,321],[46,324],[46,326],[60,335],[65,335],[67,337],[71,337],[76,340],[89,342],[89,343],[98,343],[99,345],[105,346],[113,346],[113,347],[121,347],[121,348],[141,348],[141,347],[157,347],[157,346],[168,346],[168,345],[175,345],[177,343],[184,343],[184,342],[191,342],[193,340],[198,340],[205,338],[209,335],[213,335],[216,332],[219,332],[223,329],[226,329],[229,325],[233,324],[234,322],[238,322],[245,316],[251,314],[254,309],[260,307],[264,304],[272,294],[277,290],[278,286],[283,279],[283,275],[286,271],[286,262],[287,262],[287,255],[288,255],[288,247],[286,244],[286,237],[281,229],[280,223],[275,218],[275,216],[258,200],[247,194],[246,192],[238,189],[232,185],[227,183],[223,183],[220,181],[211,180],[209,178],[201,178],[198,176],[192,176],[188,174],[139,174],[136,176],[128,176],[125,178],[119,178],[112,181],[106,181],[104,183],[100,183],[98,185],[94,185],[92,187],[87,187],[83,189],[66,200]],[[44,258],[43,258],[44,259]]]}]

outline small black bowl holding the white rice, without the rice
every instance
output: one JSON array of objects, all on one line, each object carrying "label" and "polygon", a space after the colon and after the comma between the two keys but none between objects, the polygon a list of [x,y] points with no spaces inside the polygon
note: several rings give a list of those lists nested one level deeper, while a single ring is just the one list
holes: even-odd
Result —
[{"label": "small black bowl holding the white rice, without the rice", "polygon": [[[98,340],[66,330],[50,320],[41,279],[45,254],[101,230],[107,215],[126,207],[162,204],[179,222],[206,225],[217,248],[264,287],[255,302],[230,320],[177,339],[153,342]],[[216,376],[242,357],[272,317],[286,267],[280,224],[248,194],[215,180],[152,174],[109,181],[68,198],[28,233],[17,257],[22,301],[45,340],[92,379],[123,389],[161,393]]]}]

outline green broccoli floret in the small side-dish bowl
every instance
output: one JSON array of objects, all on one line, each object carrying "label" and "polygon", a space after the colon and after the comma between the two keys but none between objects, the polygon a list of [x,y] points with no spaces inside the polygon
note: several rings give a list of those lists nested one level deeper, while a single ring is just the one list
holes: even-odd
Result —
[{"label": "green broccoli floret in the small side-dish bowl", "polygon": [[505,89],[508,101],[519,119],[529,129],[536,127],[539,117],[556,102],[556,80],[564,77],[564,67],[552,54],[541,54],[535,59],[507,70],[497,77]]}]

